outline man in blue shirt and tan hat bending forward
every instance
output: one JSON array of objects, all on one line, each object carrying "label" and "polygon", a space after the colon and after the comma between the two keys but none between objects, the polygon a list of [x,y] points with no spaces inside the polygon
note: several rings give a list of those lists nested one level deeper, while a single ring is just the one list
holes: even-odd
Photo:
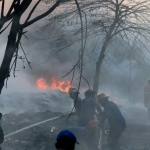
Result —
[{"label": "man in blue shirt and tan hat bending forward", "polygon": [[107,119],[110,131],[108,136],[108,146],[110,150],[118,149],[118,140],[126,128],[126,122],[117,105],[108,100],[108,96],[101,93],[97,96],[97,101],[104,108],[103,114],[99,117],[99,126]]}]

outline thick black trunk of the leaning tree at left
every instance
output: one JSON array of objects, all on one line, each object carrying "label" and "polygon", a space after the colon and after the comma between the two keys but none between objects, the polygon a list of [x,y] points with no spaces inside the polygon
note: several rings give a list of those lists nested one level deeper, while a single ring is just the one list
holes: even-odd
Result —
[{"label": "thick black trunk of the leaning tree at left", "polygon": [[[22,3],[18,3],[18,6],[13,6],[15,9],[15,12],[13,13],[13,21],[12,21],[12,26],[10,29],[10,33],[8,35],[8,41],[7,41],[7,46],[5,50],[5,54],[3,57],[3,61],[0,67],[0,94],[2,92],[3,86],[5,79],[8,78],[9,72],[10,72],[10,64],[12,61],[12,58],[14,56],[14,53],[17,48],[17,38],[18,38],[18,33],[20,31],[20,18],[22,14],[26,11],[26,9],[29,7],[31,4],[32,0],[24,0]],[[7,19],[9,20],[11,17],[8,17]],[[2,27],[3,22],[0,23],[0,27]]]}]

